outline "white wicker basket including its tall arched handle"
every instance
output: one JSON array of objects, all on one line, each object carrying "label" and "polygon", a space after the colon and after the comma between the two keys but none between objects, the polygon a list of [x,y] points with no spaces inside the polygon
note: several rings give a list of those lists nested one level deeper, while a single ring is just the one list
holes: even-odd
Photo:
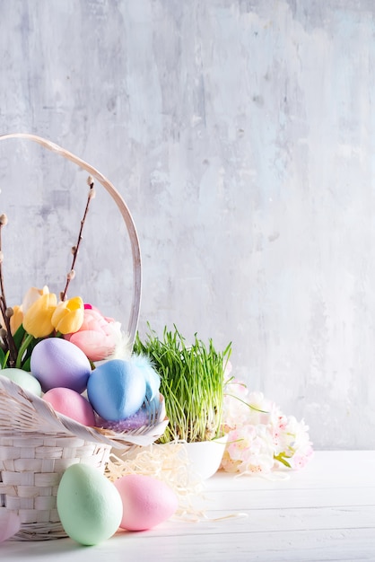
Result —
[{"label": "white wicker basket including its tall arched handle", "polygon": [[[128,333],[133,344],[141,300],[141,255],[135,224],[113,185],[87,162],[64,148],[34,135],[0,136],[28,139],[76,163],[109,191],[125,221],[134,271],[133,303]],[[0,376],[0,506],[19,515],[21,530],[16,540],[47,540],[65,537],[57,514],[57,487],[65,469],[76,462],[105,470],[112,447],[128,450],[153,443],[168,421],[161,397],[159,411],[146,426],[117,434],[87,427],[58,414],[45,400],[23,391]]]}]

